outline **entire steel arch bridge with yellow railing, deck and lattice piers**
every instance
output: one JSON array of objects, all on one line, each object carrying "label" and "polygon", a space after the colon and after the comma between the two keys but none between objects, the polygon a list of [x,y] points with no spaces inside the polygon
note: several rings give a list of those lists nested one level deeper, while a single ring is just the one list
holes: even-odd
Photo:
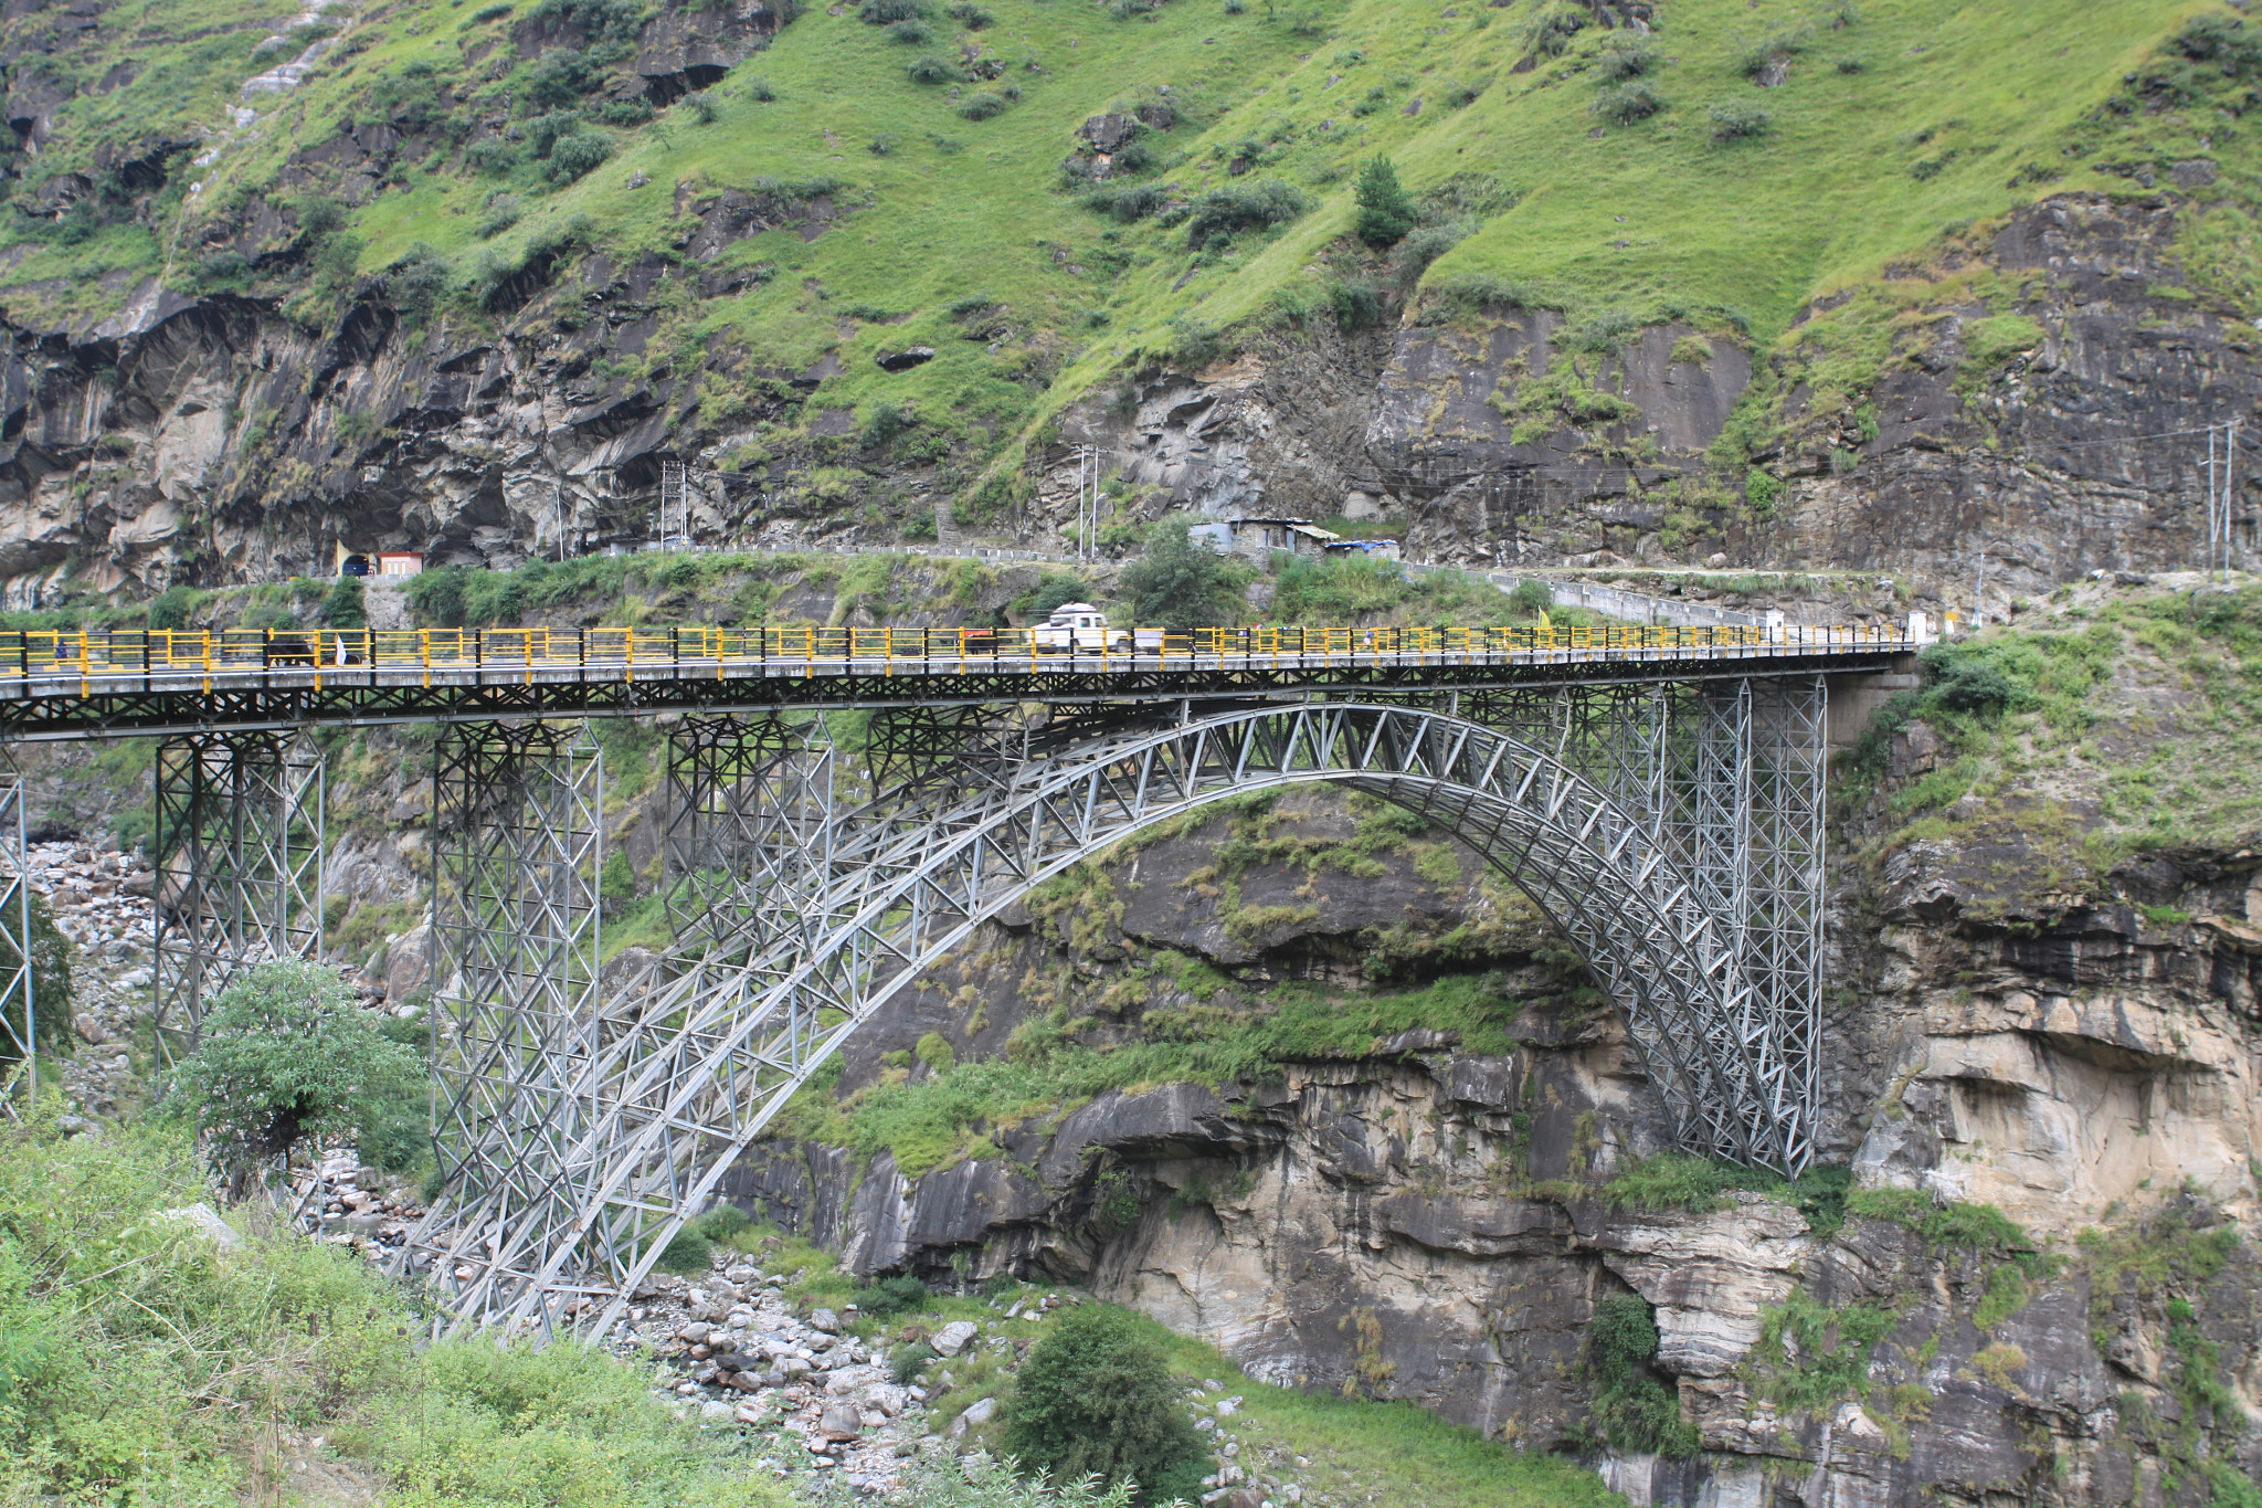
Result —
[{"label": "entire steel arch bridge with yellow railing, deck and lattice piers", "polygon": [[[1289,785],[1421,812],[1531,893],[1624,1013],[1687,1149],[1785,1173],[1814,1155],[1825,681],[1891,665],[1907,635],[1280,631],[1111,662],[968,653],[964,633],[939,651],[934,631],[916,656],[898,631],[873,631],[878,653],[701,631],[692,653],[672,633],[672,658],[633,638],[606,658],[595,633],[572,656],[523,631],[439,656],[369,640],[362,665],[342,640],[344,669],[328,642],[312,667],[271,638],[233,660],[206,644],[197,665],[84,635],[18,644],[16,676],[0,642],[0,737],[165,739],[172,1042],[235,970],[319,943],[305,730],[446,723],[448,1185],[398,1266],[457,1327],[608,1325],[794,1090],[984,918],[1140,827]],[[862,762],[828,742],[844,708],[869,714]],[[604,787],[584,719],[606,714],[667,730],[676,941],[599,988]],[[16,843],[20,875],[20,825]]]}]

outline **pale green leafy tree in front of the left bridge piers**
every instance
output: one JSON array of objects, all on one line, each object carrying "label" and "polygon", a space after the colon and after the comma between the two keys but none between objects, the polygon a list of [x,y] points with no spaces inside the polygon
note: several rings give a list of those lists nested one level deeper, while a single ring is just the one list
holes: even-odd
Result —
[{"label": "pale green leafy tree in front of the left bridge piers", "polygon": [[213,999],[170,1087],[213,1139],[228,1198],[244,1198],[262,1162],[287,1160],[301,1137],[389,1117],[421,1081],[416,1054],[387,1038],[335,972],[274,959]]}]

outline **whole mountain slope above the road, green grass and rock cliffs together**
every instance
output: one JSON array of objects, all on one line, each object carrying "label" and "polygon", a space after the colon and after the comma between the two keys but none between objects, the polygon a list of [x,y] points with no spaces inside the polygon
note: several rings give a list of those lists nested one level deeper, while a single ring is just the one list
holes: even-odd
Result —
[{"label": "whole mountain slope above the road, green grass and rock cliffs together", "polygon": [[2262,391],[2262,47],[2214,0],[5,27],[20,606],[645,538],[667,459],[713,540],[1043,540],[1072,441],[1115,522],[1380,509],[1441,556],[1943,586],[1986,538],[1941,495],[2156,513],[1997,577],[2043,586],[2192,554],[2174,432]]}]

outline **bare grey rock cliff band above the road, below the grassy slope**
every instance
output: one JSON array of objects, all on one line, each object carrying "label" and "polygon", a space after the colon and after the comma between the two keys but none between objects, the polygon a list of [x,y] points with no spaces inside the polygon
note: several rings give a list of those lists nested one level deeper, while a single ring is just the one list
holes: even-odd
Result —
[{"label": "bare grey rock cliff band above the road, below the grassy slope", "polygon": [[[939,506],[948,522],[966,479],[952,459],[864,454],[851,479],[812,486],[819,466],[857,457],[839,439],[848,411],[817,414],[760,470],[715,470],[817,389],[823,362],[713,350],[629,369],[672,310],[735,276],[733,244],[780,226],[823,235],[857,213],[789,190],[676,194],[676,253],[618,265],[563,244],[498,285],[475,326],[405,317],[382,285],[314,330],[256,298],[154,283],[90,328],[11,326],[7,601],[70,577],[147,592],[321,574],[339,547],[507,567],[561,540],[636,540],[676,459],[694,468],[706,540],[884,543]],[[1090,443],[1133,511],[1398,515],[1436,561],[1875,567],[1939,606],[1970,599],[1984,554],[1993,615],[2090,570],[2185,567],[2205,520],[2196,432],[2251,416],[2262,373],[2246,323],[2183,283],[2178,213],[2165,194],[2067,194],[1902,269],[1889,355],[1830,411],[1810,407],[1823,346],[1755,373],[1735,339],[1687,326],[1604,339],[1547,312],[1441,307],[1387,332],[1267,335],[1070,407],[1031,461],[1022,531],[1043,540],[1070,518],[1070,448]],[[1975,271],[2015,287],[2015,317],[1972,301]],[[1828,301],[1812,317],[1850,319]],[[2031,344],[2004,355],[2004,319]],[[1701,477],[1737,414],[1787,425],[1760,454],[1782,477],[1767,506]],[[2255,495],[2235,482],[2237,561],[2257,549]]]}]

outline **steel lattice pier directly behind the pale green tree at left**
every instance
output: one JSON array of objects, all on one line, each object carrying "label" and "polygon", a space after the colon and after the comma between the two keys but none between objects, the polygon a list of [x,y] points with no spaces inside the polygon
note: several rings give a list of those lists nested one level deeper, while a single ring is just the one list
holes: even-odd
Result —
[{"label": "steel lattice pier directly behind the pale green tree at left", "polygon": [[156,751],[156,1026],[190,1049],[213,995],[321,945],[323,760],[308,735],[192,733]]}]

